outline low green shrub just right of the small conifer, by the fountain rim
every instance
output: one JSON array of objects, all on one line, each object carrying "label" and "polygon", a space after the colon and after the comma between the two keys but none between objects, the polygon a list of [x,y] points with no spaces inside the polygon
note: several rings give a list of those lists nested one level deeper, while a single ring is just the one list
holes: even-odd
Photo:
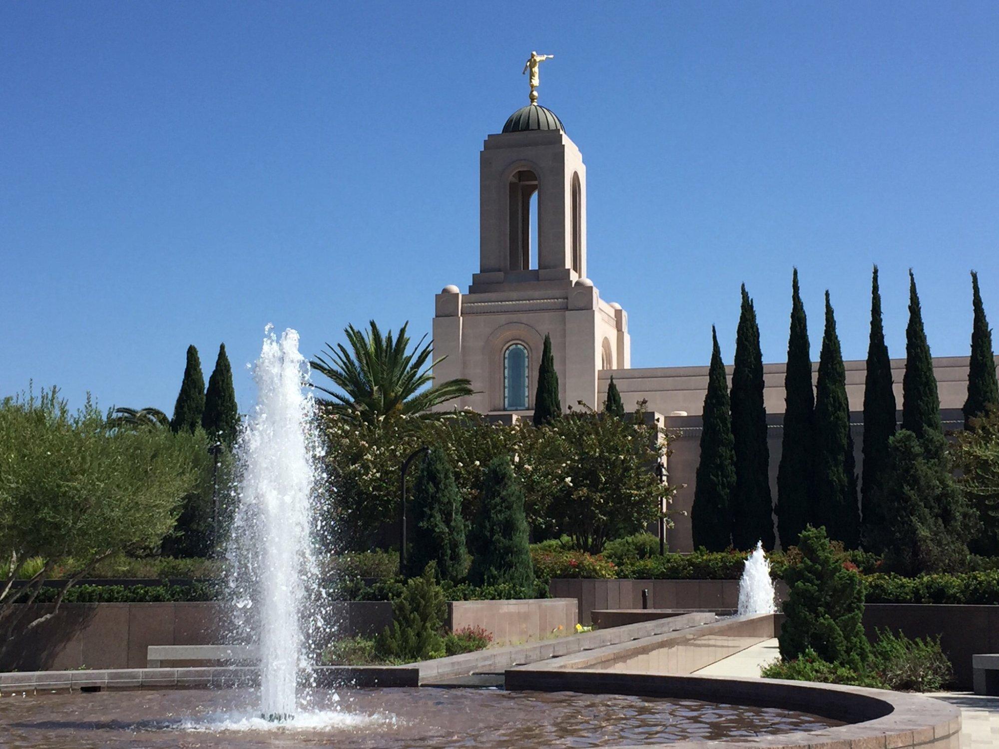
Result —
[{"label": "low green shrub just right of the small conifer, by the fountain rim", "polygon": [[937,692],[954,679],[954,669],[940,648],[940,637],[910,640],[901,632],[878,630],[871,649],[871,668],[888,688],[905,692]]}]

